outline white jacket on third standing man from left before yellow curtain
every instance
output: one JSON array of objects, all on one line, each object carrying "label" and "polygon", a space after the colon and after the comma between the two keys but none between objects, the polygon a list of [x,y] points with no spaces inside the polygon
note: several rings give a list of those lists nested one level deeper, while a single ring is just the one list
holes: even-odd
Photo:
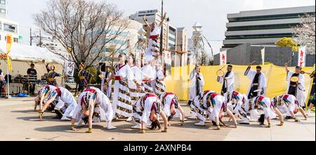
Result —
[{"label": "white jacket on third standing man from left before yellow curtain", "polygon": [[[248,79],[250,79],[250,86],[248,89],[248,92],[246,95],[249,95],[252,85],[254,84],[254,78],[256,76],[257,72],[253,69],[249,69],[248,72],[245,72],[245,76],[247,76]],[[258,89],[264,90],[264,93],[262,95],[265,95],[267,93],[267,81],[265,79],[265,74],[261,72],[261,75],[259,76],[259,86]],[[258,92],[258,95],[260,95],[261,92]]]}]

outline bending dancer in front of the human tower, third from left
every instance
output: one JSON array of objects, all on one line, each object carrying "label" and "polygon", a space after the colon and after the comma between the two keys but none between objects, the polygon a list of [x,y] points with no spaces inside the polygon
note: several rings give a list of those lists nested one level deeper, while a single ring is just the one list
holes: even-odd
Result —
[{"label": "bending dancer in front of the human tower, third from left", "polygon": [[139,133],[145,133],[145,126],[150,124],[151,130],[161,129],[158,116],[162,116],[164,120],[163,133],[168,131],[168,119],[162,110],[162,102],[155,94],[146,94],[136,102],[133,108],[133,121],[140,126]]}]

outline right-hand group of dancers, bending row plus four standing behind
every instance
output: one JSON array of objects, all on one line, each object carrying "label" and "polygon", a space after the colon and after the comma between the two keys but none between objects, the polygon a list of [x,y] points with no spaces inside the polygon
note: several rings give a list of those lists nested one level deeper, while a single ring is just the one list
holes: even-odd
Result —
[{"label": "right-hand group of dancers, bending row plus four standing behind", "polygon": [[[287,64],[284,66],[288,81],[287,94],[272,98],[265,96],[267,82],[265,74],[261,72],[261,66],[253,70],[249,64],[244,72],[244,76],[251,81],[246,94],[235,90],[235,74],[232,72],[232,65],[228,65],[227,72],[223,72],[221,69],[218,71],[218,82],[223,84],[221,93],[212,90],[203,91],[203,75],[199,66],[196,66],[190,74],[192,81],[189,100],[192,114],[190,119],[197,118],[199,120],[199,123],[195,123],[196,126],[205,126],[206,119],[210,119],[218,130],[220,123],[225,126],[225,123],[221,121],[224,114],[230,116],[230,119],[235,123],[233,128],[237,128],[236,117],[240,119],[239,123],[242,124],[249,124],[249,121],[252,120],[264,125],[266,120],[269,128],[271,127],[270,120],[277,119],[277,116],[280,121],[277,126],[284,125],[282,113],[287,114],[286,119],[294,119],[298,122],[300,120],[297,119],[296,114],[301,112],[304,120],[307,120],[307,114],[303,109],[306,99],[305,77],[303,75],[305,72],[302,72],[301,67],[296,67],[295,72],[291,72]],[[313,74],[310,76],[312,79],[315,78],[315,72]],[[315,105],[315,103],[312,104]],[[259,114],[258,109],[263,109],[263,114]]]}]

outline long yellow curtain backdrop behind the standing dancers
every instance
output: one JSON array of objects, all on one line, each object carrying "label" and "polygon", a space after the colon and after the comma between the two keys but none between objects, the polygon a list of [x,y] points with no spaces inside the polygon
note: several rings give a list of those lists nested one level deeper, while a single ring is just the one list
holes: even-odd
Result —
[{"label": "long yellow curtain backdrop behind the standing dancers", "polygon": [[[214,90],[220,92],[222,84],[217,82],[216,72],[221,69],[222,66],[202,66],[201,72],[204,77],[205,86],[204,90]],[[263,73],[266,76],[268,83],[267,97],[274,97],[287,93],[287,73],[284,67],[278,67],[275,65],[262,65]],[[233,72],[235,72],[235,90],[246,93],[249,88],[250,80],[244,76],[244,72],[247,66],[233,65]],[[252,66],[252,69],[256,69],[256,66]],[[188,100],[189,90],[191,86],[190,72],[194,69],[194,66],[185,67],[172,67],[171,74],[167,73],[166,86],[167,91],[176,93],[180,100]],[[289,68],[294,71],[294,67]],[[312,72],[315,67],[305,67],[303,71]],[[225,72],[226,67],[223,69]],[[305,74],[305,96],[306,100],[309,98],[310,90],[312,86],[312,80],[308,74]]]}]

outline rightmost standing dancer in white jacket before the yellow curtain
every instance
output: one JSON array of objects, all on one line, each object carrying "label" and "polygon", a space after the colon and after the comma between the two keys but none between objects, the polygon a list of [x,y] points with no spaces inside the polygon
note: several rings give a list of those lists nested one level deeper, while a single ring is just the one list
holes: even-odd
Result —
[{"label": "rightmost standing dancer in white jacket before the yellow curtain", "polygon": [[[301,67],[296,67],[295,72],[289,70],[287,63],[284,65],[287,72],[287,94],[294,95],[299,106],[305,107],[305,77],[301,74]],[[294,76],[298,77],[298,81],[291,81]]]}]

